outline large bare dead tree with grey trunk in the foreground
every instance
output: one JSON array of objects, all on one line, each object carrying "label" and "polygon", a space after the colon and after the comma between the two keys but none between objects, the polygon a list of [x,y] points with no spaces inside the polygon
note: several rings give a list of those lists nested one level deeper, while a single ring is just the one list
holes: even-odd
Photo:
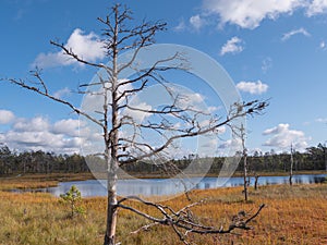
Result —
[{"label": "large bare dead tree with grey trunk in the foreground", "polygon": [[[98,19],[104,25],[101,42],[104,44],[108,63],[96,63],[85,60],[83,57],[75,53],[73,49],[63,44],[51,41],[51,45],[60,48],[63,53],[86,66],[99,69],[102,72],[98,73],[98,79],[89,84],[82,84],[78,91],[83,95],[98,96],[101,101],[101,107],[95,109],[94,113],[89,113],[73,102],[53,96],[43,79],[38,70],[34,71],[31,79],[4,78],[20,87],[33,90],[38,95],[47,97],[59,103],[62,103],[73,110],[81,117],[84,117],[89,122],[101,128],[105,150],[99,152],[106,160],[107,188],[108,188],[108,208],[107,208],[107,228],[105,233],[105,245],[116,244],[116,230],[118,210],[126,209],[133,211],[155,223],[170,225],[175,234],[185,244],[189,233],[198,234],[217,234],[229,233],[234,229],[249,229],[247,223],[254,219],[258,211],[246,220],[232,223],[227,230],[205,226],[197,223],[195,220],[186,216],[186,211],[191,208],[187,206],[180,211],[173,211],[169,207],[159,204],[142,200],[138,197],[124,197],[118,199],[117,183],[118,170],[125,164],[134,164],[141,160],[152,160],[153,158],[165,158],[169,155],[169,149],[178,139],[195,137],[199,135],[213,134],[217,128],[229,125],[233,120],[261,113],[266,107],[266,101],[240,102],[235,101],[234,107],[230,109],[229,114],[222,119],[208,114],[206,111],[197,110],[196,108],[181,106],[180,100],[182,95],[175,94],[169,85],[169,81],[165,79],[165,72],[171,70],[187,71],[187,61],[183,53],[174,53],[165,60],[154,62],[148,69],[137,69],[137,56],[146,47],[155,42],[155,35],[158,32],[165,30],[166,23],[142,22],[140,25],[132,25],[132,13],[120,4],[111,8],[111,12],[105,19]],[[129,61],[119,63],[119,54],[126,50],[133,50],[133,56]],[[174,61],[173,65],[165,66],[166,62]],[[132,77],[121,77],[128,69],[135,71]],[[105,75],[104,75],[105,74]],[[152,84],[158,84],[171,98],[171,103],[159,109],[143,109],[133,105],[132,97],[143,91]],[[99,89],[95,90],[94,88]],[[126,111],[147,113],[154,117],[154,120],[140,122],[131,117]],[[207,117],[209,123],[203,125],[202,117]],[[173,122],[182,122],[183,127],[174,126]],[[133,134],[124,135],[122,131],[126,127],[132,128]],[[152,134],[161,135],[161,143],[153,145],[152,142],[146,142],[142,137],[142,132],[150,131]],[[170,132],[166,135],[165,132]],[[164,164],[164,169],[167,168]],[[171,170],[173,168],[168,168]],[[177,169],[173,169],[178,171]],[[156,218],[132,207],[125,206],[125,200],[134,199],[142,201],[145,206],[152,206],[161,212],[161,218]],[[181,230],[185,232],[182,233]]]}]

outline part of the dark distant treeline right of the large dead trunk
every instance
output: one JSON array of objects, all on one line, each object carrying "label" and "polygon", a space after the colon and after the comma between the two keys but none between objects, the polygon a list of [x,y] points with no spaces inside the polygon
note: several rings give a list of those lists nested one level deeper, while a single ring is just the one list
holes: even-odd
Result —
[{"label": "part of the dark distant treeline right of the large dead trunk", "polygon": [[[252,156],[247,156],[249,172],[254,174],[255,172],[289,172],[291,168],[291,154],[281,152],[277,154],[274,150],[269,152],[255,151]],[[178,169],[185,169],[193,163],[194,172],[202,172],[198,170],[202,168],[203,162],[209,162],[211,164],[208,173],[218,174],[226,161],[225,157],[215,158],[198,158],[197,156],[190,155],[183,159],[172,160],[166,168],[178,167]],[[133,166],[126,166],[124,169],[132,173],[157,173],[162,172],[162,168],[148,164],[145,162],[138,162]],[[172,168],[173,169],[173,168]],[[319,144],[317,147],[308,147],[305,152],[293,152],[293,170],[294,171],[327,171],[327,147]],[[237,171],[243,171],[243,159],[240,160]],[[191,171],[192,172],[192,171]]]}]

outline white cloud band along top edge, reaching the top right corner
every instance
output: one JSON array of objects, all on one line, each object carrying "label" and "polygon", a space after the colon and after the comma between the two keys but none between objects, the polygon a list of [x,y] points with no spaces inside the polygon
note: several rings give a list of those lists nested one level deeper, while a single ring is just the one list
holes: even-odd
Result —
[{"label": "white cloud band along top edge, reaching the top right corner", "polygon": [[218,16],[220,27],[226,24],[254,29],[264,20],[277,20],[303,10],[306,16],[327,12],[327,0],[203,0],[203,16]]}]

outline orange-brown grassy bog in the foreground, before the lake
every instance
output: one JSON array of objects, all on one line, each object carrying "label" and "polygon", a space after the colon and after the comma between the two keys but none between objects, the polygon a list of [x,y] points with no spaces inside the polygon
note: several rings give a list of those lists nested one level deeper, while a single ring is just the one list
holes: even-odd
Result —
[{"label": "orange-brown grassy bog in the foreground, before the lake", "polygon": [[[267,205],[252,223],[252,231],[237,231],[231,235],[199,235],[199,244],[327,244],[327,185],[277,185],[251,189],[251,201],[242,201],[241,188],[194,191],[193,200],[207,203],[193,211],[204,223],[228,225],[240,210],[254,211]],[[174,208],[187,203],[184,196],[167,201]],[[14,194],[0,192],[0,244],[31,245],[96,245],[102,243],[106,198],[84,198],[84,216],[70,219],[69,209],[49,194]],[[132,204],[145,209],[136,203]],[[147,210],[153,212],[153,210]],[[120,211],[118,241],[128,245],[175,245],[177,236],[168,228],[154,226],[146,232],[130,234],[147,222]]]}]

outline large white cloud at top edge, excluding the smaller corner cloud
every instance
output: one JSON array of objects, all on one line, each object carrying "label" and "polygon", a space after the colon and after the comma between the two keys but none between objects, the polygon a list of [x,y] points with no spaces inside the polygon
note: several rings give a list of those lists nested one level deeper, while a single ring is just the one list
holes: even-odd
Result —
[{"label": "large white cloud at top edge, excluding the smaller corner cloud", "polygon": [[292,14],[303,5],[301,0],[203,0],[204,11],[218,15],[220,25],[230,23],[251,29],[265,19],[276,20],[280,14]]}]

